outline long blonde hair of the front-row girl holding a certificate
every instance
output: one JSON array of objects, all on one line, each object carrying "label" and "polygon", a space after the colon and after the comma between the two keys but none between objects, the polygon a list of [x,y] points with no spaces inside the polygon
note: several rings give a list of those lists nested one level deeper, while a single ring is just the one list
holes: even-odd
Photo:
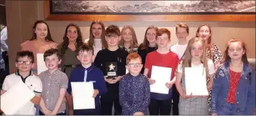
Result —
[{"label": "long blonde hair of the front-row girl holding a certificate", "polygon": [[209,75],[208,59],[207,59],[207,56],[206,56],[207,44],[206,44],[205,40],[203,40],[201,37],[193,37],[191,40],[188,41],[188,46],[185,49],[185,53],[182,56],[182,59],[179,61],[179,64],[182,65],[182,72],[183,72],[182,75],[184,76],[185,67],[191,67],[191,58],[192,58],[191,49],[192,49],[192,45],[193,45],[193,43],[196,43],[198,41],[203,44],[203,55],[200,57],[200,61],[203,64],[203,67],[206,68],[206,78],[207,78],[208,75]]}]

